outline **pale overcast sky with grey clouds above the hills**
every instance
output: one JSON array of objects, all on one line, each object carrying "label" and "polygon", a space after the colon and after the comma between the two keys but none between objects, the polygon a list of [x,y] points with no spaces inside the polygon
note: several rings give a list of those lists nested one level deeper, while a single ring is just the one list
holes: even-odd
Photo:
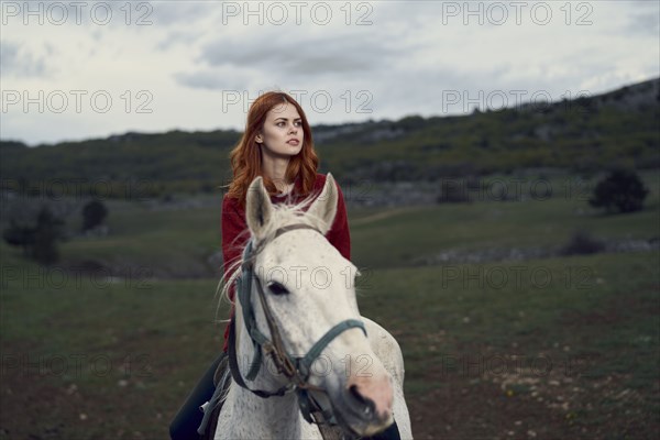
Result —
[{"label": "pale overcast sky with grey clouds above the hills", "polygon": [[2,1],[0,138],[469,113],[660,76],[650,1]]}]

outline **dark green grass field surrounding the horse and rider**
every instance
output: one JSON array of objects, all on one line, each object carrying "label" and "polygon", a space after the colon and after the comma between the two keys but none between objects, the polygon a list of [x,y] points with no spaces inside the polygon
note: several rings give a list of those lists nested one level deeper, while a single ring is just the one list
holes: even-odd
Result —
[{"label": "dark green grass field surrounding the horse and rider", "polygon": [[[447,250],[552,246],[578,228],[660,237],[646,209],[602,216],[576,197],[351,210],[359,302],[399,341],[417,438],[642,439],[660,429],[660,253],[416,266]],[[108,280],[38,267],[0,244],[0,438],[162,439],[221,348],[218,209],[111,210],[107,238],[65,261],[133,268]],[[208,267],[207,267],[208,268]],[[164,272],[167,272],[164,271]],[[178,272],[177,272],[178,271]],[[201,271],[201,270],[200,270]]]}]

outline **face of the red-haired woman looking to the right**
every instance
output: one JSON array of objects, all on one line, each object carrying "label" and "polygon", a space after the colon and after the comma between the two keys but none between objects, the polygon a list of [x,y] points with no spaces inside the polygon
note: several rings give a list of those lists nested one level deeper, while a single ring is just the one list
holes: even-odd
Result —
[{"label": "face of the red-haired woman looking to the right", "polygon": [[300,152],[304,135],[298,110],[295,106],[283,102],[266,113],[264,127],[255,140],[264,146],[265,154],[288,158]]}]

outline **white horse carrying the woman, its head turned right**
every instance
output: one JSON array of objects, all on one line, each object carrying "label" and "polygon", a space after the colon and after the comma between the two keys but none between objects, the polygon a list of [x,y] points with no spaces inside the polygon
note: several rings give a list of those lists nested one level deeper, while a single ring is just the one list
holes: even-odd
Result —
[{"label": "white horse carrying the woman, its head turned right", "polygon": [[[400,348],[381,326],[361,317],[354,289],[358,270],[324,238],[337,212],[337,199],[330,174],[307,212],[305,202],[272,205],[261,177],[251,184],[245,216],[252,248],[243,257],[252,263],[253,282],[245,288],[246,298],[240,294],[245,280],[237,287],[237,367],[216,440],[321,439],[319,427],[306,420],[299,392],[307,392],[321,409],[331,410],[333,420],[349,436],[369,437],[396,420],[400,437],[413,438]],[[226,293],[240,273],[235,271],[227,280]],[[241,297],[246,302],[242,304]],[[248,309],[253,320],[244,318]],[[250,330],[246,320],[253,322]],[[283,374],[268,350],[255,344],[255,330],[268,341],[278,333],[275,339],[284,351],[279,363],[310,351],[316,355],[310,354],[307,369],[298,367],[294,376],[290,371]],[[321,339],[324,341],[319,342]],[[254,358],[255,350],[266,353],[260,360]],[[254,359],[261,362],[257,371],[251,369]],[[246,377],[251,373],[253,377]],[[237,377],[246,387],[240,386]],[[283,395],[264,398],[248,388],[280,391]]]}]

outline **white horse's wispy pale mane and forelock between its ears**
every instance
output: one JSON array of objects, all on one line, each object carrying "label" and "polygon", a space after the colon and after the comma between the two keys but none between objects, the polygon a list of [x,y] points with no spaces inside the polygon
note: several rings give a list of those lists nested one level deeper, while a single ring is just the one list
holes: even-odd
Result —
[{"label": "white horse's wispy pale mane and forelock between its ears", "polygon": [[[309,212],[307,209],[317,198],[318,194],[310,194],[305,199],[297,204],[284,202],[273,205],[273,215],[271,221],[263,229],[263,238],[258,243],[267,243],[268,241],[275,238],[275,233],[277,230],[284,226],[293,224],[293,223],[305,223],[310,227],[321,229],[322,220]],[[244,233],[250,233],[248,230]],[[249,241],[249,240],[248,240]],[[218,283],[218,288],[216,289],[216,295],[220,293],[220,300],[218,301],[218,307],[216,309],[216,316],[220,309],[220,301],[222,298],[227,298],[228,301],[234,302],[229,297],[229,292],[232,286],[235,285],[237,279],[241,275],[241,271],[239,271],[241,264],[243,263],[243,251],[248,245],[248,241],[241,248],[241,253],[239,257],[231,262],[224,262],[224,264],[229,264],[228,268],[224,271],[224,275],[220,278]],[[255,243],[255,244],[258,244]],[[229,276],[227,276],[229,275]],[[220,320],[219,322],[228,322],[229,320]]]}]

